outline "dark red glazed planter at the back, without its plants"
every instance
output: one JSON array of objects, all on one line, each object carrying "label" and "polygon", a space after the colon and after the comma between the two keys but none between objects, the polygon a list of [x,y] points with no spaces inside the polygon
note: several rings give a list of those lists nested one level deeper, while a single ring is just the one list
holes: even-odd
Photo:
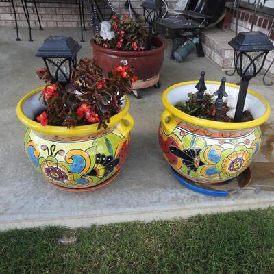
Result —
[{"label": "dark red glazed planter at the back, without its plants", "polygon": [[106,49],[95,44],[94,40],[90,40],[90,44],[93,48],[93,57],[98,60],[105,75],[114,66],[121,65],[122,60],[127,60],[129,66],[134,67],[134,73],[138,77],[138,81],[134,83],[134,89],[147,88],[158,82],[166,49],[166,42],[161,38],[153,37],[153,46],[158,48],[149,51]]}]

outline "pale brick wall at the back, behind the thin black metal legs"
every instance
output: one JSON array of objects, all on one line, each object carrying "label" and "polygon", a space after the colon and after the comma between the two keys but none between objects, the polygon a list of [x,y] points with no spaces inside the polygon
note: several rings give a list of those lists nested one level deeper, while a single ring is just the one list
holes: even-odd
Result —
[{"label": "pale brick wall at the back, behind the thin black metal legs", "polygon": [[[186,0],[167,0],[169,9],[174,10],[175,5],[184,6]],[[142,0],[132,0],[132,5],[136,8],[140,7]],[[114,8],[116,8],[119,14],[129,13],[129,10],[125,9],[125,0],[112,0]],[[25,14],[20,0],[14,0],[16,8],[18,26],[27,27],[27,21],[25,20]],[[35,14],[34,5],[32,3],[27,4],[29,7],[29,14],[31,25],[38,27],[37,16]],[[103,12],[108,12],[103,5],[103,0],[99,1],[99,5]],[[42,21],[42,27],[79,27],[79,10],[77,5],[73,4],[49,4],[49,3],[37,3],[38,12]],[[140,12],[140,8],[138,9]],[[88,12],[85,10],[86,21],[88,22]],[[0,26],[14,27],[14,14],[12,12],[11,3],[0,2]]]}]

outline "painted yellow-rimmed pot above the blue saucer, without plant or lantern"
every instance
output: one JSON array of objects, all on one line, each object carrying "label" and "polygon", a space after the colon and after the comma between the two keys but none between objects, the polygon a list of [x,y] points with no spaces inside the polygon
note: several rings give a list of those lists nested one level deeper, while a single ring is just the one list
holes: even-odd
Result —
[{"label": "painted yellow-rimmed pot above the blue saucer, without plant or lantern", "polygon": [[[260,125],[271,110],[264,98],[248,90],[248,110],[254,117],[245,123],[224,123],[199,119],[175,108],[195,92],[197,82],[175,84],[162,95],[164,112],[159,127],[159,143],[170,166],[187,179],[199,183],[219,183],[232,179],[251,164],[262,145]],[[220,82],[206,82],[217,90]],[[238,94],[238,86],[226,84],[228,95]],[[235,93],[237,92],[237,93]]]}]

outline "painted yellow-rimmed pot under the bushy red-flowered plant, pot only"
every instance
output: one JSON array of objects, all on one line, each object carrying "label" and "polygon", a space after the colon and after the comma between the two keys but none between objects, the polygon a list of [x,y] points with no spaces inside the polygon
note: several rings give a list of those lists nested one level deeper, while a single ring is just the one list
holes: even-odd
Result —
[{"label": "painted yellow-rimmed pot under the bushy red-flowered plant, pot only", "polygon": [[29,92],[17,105],[17,116],[27,126],[25,153],[47,182],[64,190],[93,190],[119,173],[129,149],[134,119],[123,101],[108,128],[98,124],[72,127],[42,126],[34,117],[45,109],[39,101],[42,88]]}]

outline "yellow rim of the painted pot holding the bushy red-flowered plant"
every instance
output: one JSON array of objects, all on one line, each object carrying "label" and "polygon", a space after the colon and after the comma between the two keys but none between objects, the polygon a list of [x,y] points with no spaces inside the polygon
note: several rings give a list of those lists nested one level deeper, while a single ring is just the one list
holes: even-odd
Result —
[{"label": "yellow rim of the painted pot holding the bushy red-flowered plant", "polygon": [[[64,126],[53,126],[53,125],[46,125],[42,126],[40,123],[33,121],[32,119],[29,119],[22,111],[22,107],[25,103],[25,101],[32,97],[32,95],[35,95],[37,92],[40,92],[45,87],[42,86],[40,88],[36,88],[35,90],[32,90],[27,95],[25,95],[18,103],[16,107],[16,114],[18,116],[18,119],[27,127],[30,129],[33,129],[36,132],[42,132],[45,134],[52,134],[52,135],[58,135],[58,136],[79,136],[79,135],[85,135],[90,134],[94,132],[99,132],[103,130],[103,128],[98,129],[98,123],[92,124],[92,125],[79,125],[76,127],[64,127]],[[125,96],[125,108],[121,110],[118,114],[112,116],[110,118],[110,123],[108,123],[108,127],[112,127],[123,120],[123,118],[127,115],[127,112],[129,110],[129,99],[127,96]]]}]

